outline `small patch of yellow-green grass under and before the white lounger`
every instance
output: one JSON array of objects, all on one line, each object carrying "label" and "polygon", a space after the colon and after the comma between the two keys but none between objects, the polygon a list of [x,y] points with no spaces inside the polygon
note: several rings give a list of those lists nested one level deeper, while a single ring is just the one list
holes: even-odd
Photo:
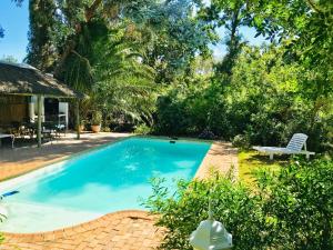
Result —
[{"label": "small patch of yellow-green grass under and before the white lounger", "polygon": [[279,171],[289,162],[289,157],[274,156],[274,160],[270,160],[269,156],[259,154],[256,151],[239,152],[239,177],[246,184],[252,186],[255,181],[254,172],[260,168]]}]

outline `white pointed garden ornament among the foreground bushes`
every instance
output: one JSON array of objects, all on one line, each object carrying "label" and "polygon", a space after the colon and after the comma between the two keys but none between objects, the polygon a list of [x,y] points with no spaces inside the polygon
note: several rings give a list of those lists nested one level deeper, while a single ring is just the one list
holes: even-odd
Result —
[{"label": "white pointed garden ornament among the foreground bushes", "polygon": [[209,204],[209,219],[201,221],[195,231],[191,233],[190,243],[195,250],[223,250],[232,248],[232,234],[224,226],[213,219],[211,202]]}]

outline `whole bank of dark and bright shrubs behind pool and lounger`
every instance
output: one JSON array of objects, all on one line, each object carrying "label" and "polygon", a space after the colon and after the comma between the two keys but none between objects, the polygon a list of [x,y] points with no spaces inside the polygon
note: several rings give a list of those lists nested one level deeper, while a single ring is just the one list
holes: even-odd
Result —
[{"label": "whole bank of dark and bright shrubs behind pool and lounger", "polygon": [[333,96],[307,96],[303,82],[313,71],[285,62],[284,53],[284,47],[244,47],[228,86],[213,78],[170,89],[158,102],[157,131],[199,134],[209,128],[224,139],[244,134],[250,144],[273,146],[300,131],[310,136],[310,149],[330,150]]}]

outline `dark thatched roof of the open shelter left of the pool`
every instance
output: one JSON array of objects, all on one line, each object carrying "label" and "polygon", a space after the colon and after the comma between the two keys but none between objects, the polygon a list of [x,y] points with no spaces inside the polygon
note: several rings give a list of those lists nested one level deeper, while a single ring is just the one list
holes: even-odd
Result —
[{"label": "dark thatched roof of the open shelter left of the pool", "polygon": [[28,66],[0,61],[0,94],[54,98],[82,98],[83,94],[54,79],[51,74]]}]

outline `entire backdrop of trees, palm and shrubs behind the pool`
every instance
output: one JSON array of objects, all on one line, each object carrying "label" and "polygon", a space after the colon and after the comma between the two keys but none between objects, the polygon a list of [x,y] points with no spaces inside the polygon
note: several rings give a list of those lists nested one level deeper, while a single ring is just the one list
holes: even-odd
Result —
[{"label": "entire backdrop of trees, palm and shrubs behind the pool", "polygon": [[[264,144],[303,131],[323,150],[332,20],[332,3],[313,0],[31,0],[27,61],[91,96],[105,119]],[[242,27],[269,46],[246,43]],[[216,61],[218,42],[226,54]]]}]

